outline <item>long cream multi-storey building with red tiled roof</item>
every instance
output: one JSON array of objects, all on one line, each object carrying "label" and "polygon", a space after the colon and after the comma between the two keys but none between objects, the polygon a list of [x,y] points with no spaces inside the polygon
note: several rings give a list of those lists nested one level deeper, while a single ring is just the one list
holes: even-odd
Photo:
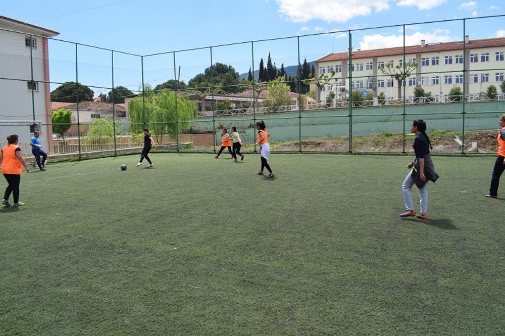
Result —
[{"label": "long cream multi-storey building with red tiled roof", "polygon": [[[489,85],[497,87],[505,74],[505,38],[489,38],[465,41],[425,43],[405,47],[405,62],[417,63],[412,75],[403,82],[406,97],[414,96],[414,88],[420,85],[433,96],[446,96],[450,89],[459,86],[465,93],[477,96]],[[321,102],[333,91],[337,98],[345,98],[349,90],[372,93],[376,97],[384,92],[389,99],[398,98],[397,81],[382,74],[379,66],[391,63],[403,64],[403,47],[352,51],[349,69],[348,52],[331,53],[315,61],[319,74],[335,71],[334,81],[321,90]],[[349,77],[350,70],[350,77]],[[465,71],[464,71],[465,70]],[[311,90],[317,87],[311,84]],[[401,88],[403,95],[403,88]]]}]

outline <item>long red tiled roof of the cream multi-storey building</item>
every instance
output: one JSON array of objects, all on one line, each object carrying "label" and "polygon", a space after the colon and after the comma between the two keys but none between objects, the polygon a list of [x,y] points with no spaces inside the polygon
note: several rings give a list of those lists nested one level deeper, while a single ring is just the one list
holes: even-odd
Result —
[{"label": "long red tiled roof of the cream multi-storey building", "polygon": [[[470,40],[466,43],[466,49],[489,48],[496,46],[505,46],[505,37],[487,38],[482,40]],[[405,47],[406,54],[426,53],[426,52],[439,52],[449,50],[463,50],[463,41],[457,42],[443,42],[425,44],[425,46],[409,45]],[[352,59],[369,59],[373,57],[385,57],[402,55],[403,47],[383,48],[383,49],[370,49],[370,50],[355,50],[352,51]],[[349,58],[348,52],[330,53],[315,62],[328,62],[328,61],[343,61]]]}]

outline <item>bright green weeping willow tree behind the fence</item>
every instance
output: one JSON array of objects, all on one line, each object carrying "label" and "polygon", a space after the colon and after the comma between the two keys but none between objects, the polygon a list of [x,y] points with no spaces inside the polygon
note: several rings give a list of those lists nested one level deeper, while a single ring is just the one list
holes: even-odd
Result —
[{"label": "bright green weeping willow tree behind the fence", "polygon": [[177,130],[181,132],[188,129],[190,122],[196,118],[196,107],[187,95],[179,93],[176,111],[176,94],[174,91],[147,92],[144,95],[144,108],[142,95],[133,98],[128,105],[132,132],[141,133],[147,127],[156,135],[170,134],[175,137]]}]

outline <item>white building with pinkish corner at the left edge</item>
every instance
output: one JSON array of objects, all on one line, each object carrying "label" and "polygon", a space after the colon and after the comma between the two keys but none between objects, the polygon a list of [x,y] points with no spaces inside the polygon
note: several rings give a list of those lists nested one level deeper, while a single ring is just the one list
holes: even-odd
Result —
[{"label": "white building with pinkish corner at the left edge", "polygon": [[[51,124],[47,38],[58,34],[0,16],[0,121]],[[43,126],[40,131],[42,143],[51,148],[52,127]],[[8,132],[0,130],[2,139]]]}]

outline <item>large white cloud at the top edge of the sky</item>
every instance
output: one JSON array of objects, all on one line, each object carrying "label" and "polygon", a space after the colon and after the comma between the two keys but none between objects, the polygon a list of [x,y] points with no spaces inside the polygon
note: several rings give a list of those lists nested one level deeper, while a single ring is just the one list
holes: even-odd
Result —
[{"label": "large white cloud at the top edge of the sky", "polygon": [[[433,0],[429,0],[433,1]],[[437,0],[440,1],[440,0]],[[326,22],[347,22],[355,16],[369,16],[373,10],[389,8],[389,0],[276,0],[279,12],[291,22],[319,19]]]}]

